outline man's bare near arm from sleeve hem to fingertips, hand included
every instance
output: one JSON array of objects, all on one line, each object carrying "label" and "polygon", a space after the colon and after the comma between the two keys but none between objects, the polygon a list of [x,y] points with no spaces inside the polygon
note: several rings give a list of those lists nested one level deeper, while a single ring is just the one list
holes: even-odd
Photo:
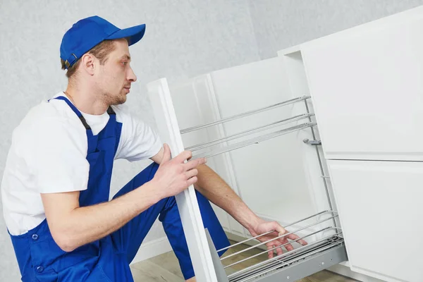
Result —
[{"label": "man's bare near arm from sleeve hem to fingertips, hand included", "polygon": [[152,157],[159,164],[152,180],[102,204],[80,207],[79,191],[42,193],[44,213],[57,245],[71,251],[104,238],[161,199],[179,194],[197,182],[195,168],[205,163],[205,159],[191,157],[191,152],[184,151],[172,159],[171,149],[164,144]]}]

